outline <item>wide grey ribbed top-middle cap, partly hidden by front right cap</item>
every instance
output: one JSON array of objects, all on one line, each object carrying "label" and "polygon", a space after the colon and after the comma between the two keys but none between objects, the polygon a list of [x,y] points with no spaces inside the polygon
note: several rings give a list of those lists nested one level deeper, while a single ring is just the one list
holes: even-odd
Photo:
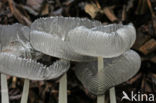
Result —
[{"label": "wide grey ribbed top-middle cap, partly hidden by front right cap", "polygon": [[75,27],[93,28],[100,22],[72,17],[50,17],[37,19],[31,25],[30,41],[38,51],[47,55],[73,61],[89,61],[94,58],[79,55],[67,44],[68,32]]}]

